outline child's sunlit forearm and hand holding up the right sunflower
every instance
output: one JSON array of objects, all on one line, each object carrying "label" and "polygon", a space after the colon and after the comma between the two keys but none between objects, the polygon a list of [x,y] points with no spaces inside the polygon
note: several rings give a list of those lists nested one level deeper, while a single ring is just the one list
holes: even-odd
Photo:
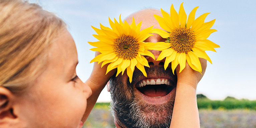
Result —
[{"label": "child's sunlit forearm and hand holding up the right sunflower", "polygon": [[188,63],[181,73],[177,66],[177,88],[171,121],[171,128],[200,128],[199,114],[197,108],[196,88],[203,77],[207,62],[199,58],[202,65],[202,74],[193,70]]}]

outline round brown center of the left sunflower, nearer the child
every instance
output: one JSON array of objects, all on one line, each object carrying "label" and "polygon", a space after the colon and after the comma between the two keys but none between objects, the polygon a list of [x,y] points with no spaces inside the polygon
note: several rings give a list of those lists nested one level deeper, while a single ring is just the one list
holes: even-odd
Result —
[{"label": "round brown center of the left sunflower, nearer the child", "polygon": [[131,36],[122,35],[117,38],[113,45],[114,53],[123,59],[133,59],[139,51],[138,40]]}]

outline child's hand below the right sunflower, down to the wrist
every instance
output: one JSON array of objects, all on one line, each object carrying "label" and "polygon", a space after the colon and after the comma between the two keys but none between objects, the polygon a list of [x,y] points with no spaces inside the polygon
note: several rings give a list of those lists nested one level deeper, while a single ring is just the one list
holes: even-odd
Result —
[{"label": "child's hand below the right sunflower, down to the wrist", "polygon": [[202,74],[198,71],[193,70],[186,62],[186,67],[182,70],[181,73],[179,73],[180,65],[178,65],[176,68],[177,83],[191,85],[196,90],[197,84],[202,79],[207,67],[206,59],[199,58],[199,60],[202,66]]}]

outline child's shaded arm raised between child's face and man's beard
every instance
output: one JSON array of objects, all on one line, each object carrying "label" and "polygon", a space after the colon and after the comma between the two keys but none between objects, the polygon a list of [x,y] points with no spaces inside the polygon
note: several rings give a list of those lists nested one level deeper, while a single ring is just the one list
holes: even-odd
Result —
[{"label": "child's shaded arm raised between child's face and man's beard", "polygon": [[[95,56],[97,56],[99,54],[100,54],[100,52],[95,52]],[[89,79],[85,81],[85,84],[87,84],[91,88],[91,91],[92,91],[91,96],[87,99],[87,107],[86,107],[85,116],[84,116],[85,120],[87,119],[92,108],[94,107],[100,92],[105,87],[105,85],[108,82],[108,80],[110,79],[110,77],[112,75],[114,75],[114,73],[116,71],[116,69],[113,69],[106,74],[106,69],[107,69],[108,64],[104,65],[101,68],[101,63],[98,64],[98,62],[94,62],[91,75],[90,75]]]}]

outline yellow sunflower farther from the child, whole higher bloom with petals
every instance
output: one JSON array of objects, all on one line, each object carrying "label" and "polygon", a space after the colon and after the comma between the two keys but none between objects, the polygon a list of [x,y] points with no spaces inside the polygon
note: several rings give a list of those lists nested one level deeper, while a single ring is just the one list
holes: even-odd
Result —
[{"label": "yellow sunflower farther from the child, whole higher bloom with petals", "polygon": [[[164,67],[165,69],[172,62],[172,70],[180,64],[180,72],[185,68],[186,61],[189,66],[202,72],[199,58],[204,58],[212,63],[209,56],[205,53],[206,50],[216,52],[214,48],[220,47],[212,41],[206,39],[211,33],[217,31],[210,29],[215,19],[204,23],[205,13],[195,19],[195,13],[198,7],[195,7],[188,16],[183,8],[183,3],[180,6],[179,14],[175,11],[173,4],[170,9],[170,15],[161,9],[162,15],[154,15],[159,25],[166,31],[161,29],[152,29],[151,33],[157,33],[163,38],[167,38],[166,42],[158,42],[158,47],[155,50],[162,51],[157,60],[162,60],[166,57]],[[156,49],[157,48],[157,49]]]}]

